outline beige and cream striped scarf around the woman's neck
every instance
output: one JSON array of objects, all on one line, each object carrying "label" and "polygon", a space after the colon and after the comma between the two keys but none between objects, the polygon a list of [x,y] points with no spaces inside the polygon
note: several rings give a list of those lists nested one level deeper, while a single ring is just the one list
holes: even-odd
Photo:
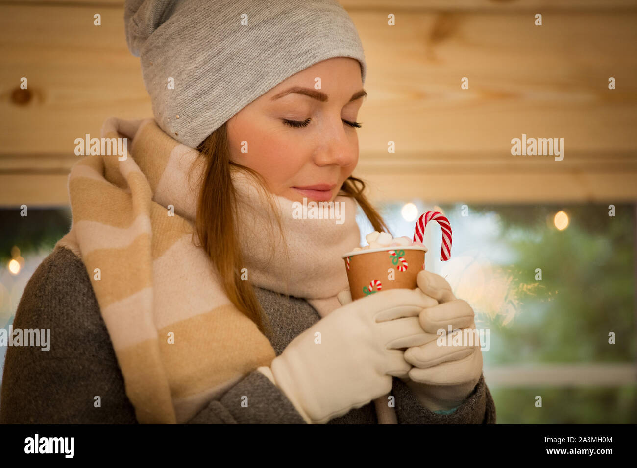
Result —
[{"label": "beige and cream striped scarf around the woman's neck", "polygon": [[[227,299],[210,259],[192,242],[199,153],[152,119],[110,118],[101,136],[127,138],[125,159],[87,148],[69,174],[71,229],[55,248],[71,249],[87,268],[138,421],[183,423],[269,365],[275,351]],[[340,255],[359,245],[355,201],[337,197],[345,202],[338,224],[296,219],[292,201],[275,197],[287,262],[281,240],[268,234],[276,233],[269,204],[247,176],[233,179],[248,280],[304,297],[321,316],[340,306],[336,294],[348,286]]]}]

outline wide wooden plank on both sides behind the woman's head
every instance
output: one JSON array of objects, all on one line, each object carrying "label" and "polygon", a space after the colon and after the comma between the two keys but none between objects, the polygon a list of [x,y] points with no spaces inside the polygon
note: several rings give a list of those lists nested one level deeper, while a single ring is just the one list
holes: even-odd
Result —
[{"label": "wide wooden plank on both sides behind the woman's head", "polygon": [[[1,7],[0,76],[13,87],[29,77],[32,96],[18,106],[11,85],[4,93],[3,152],[67,152],[108,117],[152,115],[122,12],[104,10],[95,27],[93,11]],[[418,13],[394,28],[378,13],[353,17],[369,66],[361,153],[388,141],[410,153],[503,152],[522,133],[565,138],[571,152],[636,148],[637,14],[557,13],[541,28],[519,13]]]}]

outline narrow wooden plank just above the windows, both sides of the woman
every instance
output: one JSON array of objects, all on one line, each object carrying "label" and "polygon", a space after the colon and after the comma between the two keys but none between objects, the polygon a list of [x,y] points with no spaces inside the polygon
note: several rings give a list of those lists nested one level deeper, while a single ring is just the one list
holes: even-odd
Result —
[{"label": "narrow wooden plank just above the windows, both sides of the woman", "polygon": [[[0,201],[20,204],[26,197],[31,202],[64,202],[66,174],[78,159],[64,154],[0,155],[0,177],[10,182],[2,185]],[[371,153],[361,157],[354,175],[369,181],[368,195],[375,202],[637,200],[637,159],[628,152],[582,152],[561,161],[489,153]]]}]

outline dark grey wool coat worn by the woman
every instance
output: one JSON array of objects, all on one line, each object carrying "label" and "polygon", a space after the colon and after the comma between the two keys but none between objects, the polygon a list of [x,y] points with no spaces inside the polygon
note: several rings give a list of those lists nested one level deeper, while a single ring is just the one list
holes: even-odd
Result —
[{"label": "dark grey wool coat worn by the woman", "polygon": [[[276,355],[299,333],[320,320],[304,299],[288,299],[255,288],[271,322],[268,336]],[[137,423],[124,378],[101,316],[89,275],[66,248],[51,253],[36,269],[22,294],[13,329],[50,329],[49,351],[32,346],[7,348],[0,396],[0,423]],[[399,424],[494,424],[496,407],[484,381],[450,415],[420,405],[411,390],[393,379]],[[241,408],[241,395],[251,395]],[[94,408],[92,395],[101,395]],[[188,423],[304,424],[294,406],[266,376],[252,371]],[[333,418],[328,424],[377,424],[373,402]]]}]

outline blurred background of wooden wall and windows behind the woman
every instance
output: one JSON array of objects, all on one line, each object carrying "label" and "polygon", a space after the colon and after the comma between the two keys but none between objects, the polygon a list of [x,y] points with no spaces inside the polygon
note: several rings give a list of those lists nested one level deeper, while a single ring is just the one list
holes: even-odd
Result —
[{"label": "blurred background of wooden wall and windows behind the woman", "polygon": [[[426,266],[490,331],[497,422],[637,423],[637,1],[341,4],[368,60],[354,175],[394,236],[430,209],[450,220],[451,259],[432,224]],[[152,116],[123,16],[0,1],[0,328],[70,227],[75,138]],[[522,134],[564,138],[564,159],[513,156]]]}]

